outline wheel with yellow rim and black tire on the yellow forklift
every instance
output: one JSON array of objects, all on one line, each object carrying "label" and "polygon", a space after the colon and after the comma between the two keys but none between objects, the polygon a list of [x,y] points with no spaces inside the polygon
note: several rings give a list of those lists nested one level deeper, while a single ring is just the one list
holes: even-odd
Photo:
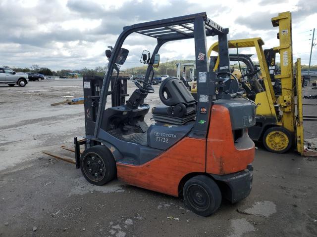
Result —
[{"label": "wheel with yellow rim and black tire on the yellow forklift", "polygon": [[269,152],[285,153],[292,146],[292,136],[284,127],[270,127],[263,135],[263,145]]}]

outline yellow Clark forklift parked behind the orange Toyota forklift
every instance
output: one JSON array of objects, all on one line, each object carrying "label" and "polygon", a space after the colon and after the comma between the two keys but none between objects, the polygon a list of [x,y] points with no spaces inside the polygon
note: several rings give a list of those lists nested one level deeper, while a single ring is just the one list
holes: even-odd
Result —
[{"label": "yellow Clark forklift parked behind the orange Toyota forklift", "polygon": [[[291,13],[279,13],[271,19],[272,25],[279,28],[277,39],[279,46],[270,50],[263,50],[264,41],[261,38],[228,40],[229,48],[237,49],[239,59],[239,48],[255,47],[260,70],[252,68],[248,75],[255,78],[261,71],[261,83],[263,89],[257,91],[255,101],[257,107],[256,125],[249,128],[249,135],[254,141],[262,141],[266,150],[275,153],[285,153],[291,148],[304,154],[304,132],[303,132],[303,108],[302,108],[302,84],[301,84],[301,61],[297,59],[296,75],[293,71],[292,55],[292,23]],[[218,43],[211,45],[211,51],[218,52]],[[268,57],[273,52],[272,57]],[[280,54],[280,74],[275,71],[275,53]],[[230,56],[231,60],[231,56]],[[215,60],[214,71],[218,70],[219,59]],[[251,76],[251,77],[250,77]],[[250,83],[249,83],[250,84]],[[276,89],[279,88],[279,89]],[[192,93],[195,91],[192,91]],[[294,92],[297,93],[297,101]],[[248,97],[248,96],[246,96]],[[297,110],[295,110],[297,104]]]}]

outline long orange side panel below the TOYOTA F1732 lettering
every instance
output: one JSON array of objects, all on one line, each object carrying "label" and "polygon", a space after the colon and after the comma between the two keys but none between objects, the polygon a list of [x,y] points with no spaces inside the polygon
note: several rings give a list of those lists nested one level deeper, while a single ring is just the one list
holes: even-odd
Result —
[{"label": "long orange side panel below the TOYOTA F1732 lettering", "polygon": [[188,173],[205,172],[206,139],[185,137],[157,158],[140,165],[117,163],[118,179],[131,185],[178,197]]}]

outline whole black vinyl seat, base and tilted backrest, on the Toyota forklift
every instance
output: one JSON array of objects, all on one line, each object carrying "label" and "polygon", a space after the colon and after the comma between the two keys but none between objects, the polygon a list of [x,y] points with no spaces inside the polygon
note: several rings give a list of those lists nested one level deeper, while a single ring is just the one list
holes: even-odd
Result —
[{"label": "whole black vinyl seat, base and tilted backrest, on the Toyota forklift", "polygon": [[195,119],[196,100],[180,79],[170,77],[163,80],[159,87],[159,98],[164,106],[152,109],[154,120],[184,124]]}]

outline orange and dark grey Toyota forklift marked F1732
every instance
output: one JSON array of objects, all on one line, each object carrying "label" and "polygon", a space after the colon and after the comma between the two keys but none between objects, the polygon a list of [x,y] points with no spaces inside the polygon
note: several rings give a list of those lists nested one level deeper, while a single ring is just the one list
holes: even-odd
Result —
[{"label": "orange and dark grey Toyota forklift marked F1732", "polygon": [[[152,53],[142,53],[148,65],[144,80],[134,81],[129,99],[120,66],[132,33],[157,39]],[[104,78],[83,79],[86,135],[75,141],[76,167],[88,182],[104,185],[117,177],[130,185],[183,197],[198,215],[215,212],[226,198],[235,203],[252,188],[255,145],[248,128],[255,125],[256,105],[241,97],[229,79],[228,29],[206,12],[135,24],[123,28],[114,47],[106,50]],[[221,70],[209,70],[206,37],[217,37]],[[198,99],[183,82],[165,79],[159,88],[162,105],[146,103],[159,48],[166,42],[194,39]],[[111,106],[107,100],[111,96]],[[153,123],[144,121],[152,112]],[[80,155],[80,145],[85,150]]]}]

